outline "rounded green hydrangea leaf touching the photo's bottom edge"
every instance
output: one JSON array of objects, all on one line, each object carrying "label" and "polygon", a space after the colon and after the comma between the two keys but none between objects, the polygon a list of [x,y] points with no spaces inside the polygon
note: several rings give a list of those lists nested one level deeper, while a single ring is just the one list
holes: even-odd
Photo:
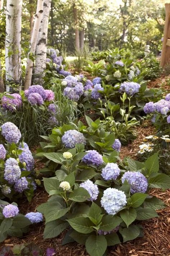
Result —
[{"label": "rounded green hydrangea leaf touching the photo's bottom edge", "polygon": [[86,250],[91,256],[102,256],[107,249],[107,240],[104,236],[91,235],[86,240]]}]

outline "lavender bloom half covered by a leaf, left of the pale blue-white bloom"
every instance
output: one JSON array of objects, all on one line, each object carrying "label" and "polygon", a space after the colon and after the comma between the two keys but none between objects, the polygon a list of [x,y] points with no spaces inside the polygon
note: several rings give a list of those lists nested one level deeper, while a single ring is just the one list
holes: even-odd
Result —
[{"label": "lavender bloom half covered by a leaf, left of the pale blue-white bloom", "polygon": [[88,191],[89,195],[91,196],[88,201],[95,201],[99,194],[99,190],[96,184],[93,184],[91,180],[86,180],[85,182],[80,184],[81,188],[84,188]]}]

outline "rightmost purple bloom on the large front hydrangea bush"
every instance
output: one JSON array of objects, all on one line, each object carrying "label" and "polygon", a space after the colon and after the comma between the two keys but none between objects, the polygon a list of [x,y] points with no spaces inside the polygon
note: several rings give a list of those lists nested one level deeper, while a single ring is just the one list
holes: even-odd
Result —
[{"label": "rightmost purple bloom on the large front hydrangea bush", "polygon": [[145,193],[147,191],[148,182],[142,173],[128,171],[124,173],[121,178],[122,183],[124,183],[125,180],[129,183],[130,192],[132,194]]}]

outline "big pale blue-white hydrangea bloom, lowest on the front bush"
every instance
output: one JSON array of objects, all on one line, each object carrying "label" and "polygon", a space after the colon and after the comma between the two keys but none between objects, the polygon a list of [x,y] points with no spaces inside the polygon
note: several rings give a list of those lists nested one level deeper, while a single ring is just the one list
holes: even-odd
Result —
[{"label": "big pale blue-white hydrangea bloom, lowest on the front bush", "polygon": [[101,198],[101,206],[108,214],[116,214],[127,204],[126,195],[116,188],[107,188]]}]

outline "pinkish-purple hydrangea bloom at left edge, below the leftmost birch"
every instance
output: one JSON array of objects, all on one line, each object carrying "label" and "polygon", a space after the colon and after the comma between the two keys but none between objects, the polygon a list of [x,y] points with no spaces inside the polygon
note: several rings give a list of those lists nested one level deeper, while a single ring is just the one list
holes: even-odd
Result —
[{"label": "pinkish-purple hydrangea bloom at left edge, below the leftmost birch", "polygon": [[22,106],[22,97],[18,93],[6,94],[14,97],[14,99],[8,98],[5,95],[2,97],[1,102],[5,110],[14,111]]}]

